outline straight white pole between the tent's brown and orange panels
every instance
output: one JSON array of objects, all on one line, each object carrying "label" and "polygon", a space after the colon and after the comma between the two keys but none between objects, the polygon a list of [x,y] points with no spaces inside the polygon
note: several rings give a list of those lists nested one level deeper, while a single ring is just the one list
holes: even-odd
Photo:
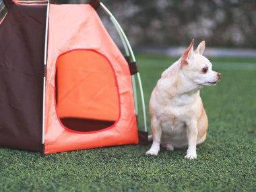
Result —
[{"label": "straight white pole between the tent's brown and orange panels", "polygon": [[44,124],[44,121],[45,121],[45,90],[46,90],[46,69],[47,69],[46,63],[47,63],[47,46],[48,46],[49,9],[50,9],[50,0],[47,1],[45,39],[44,39],[44,84],[43,84],[43,96],[42,96],[42,145],[44,145],[44,127],[45,127],[45,124]]}]

